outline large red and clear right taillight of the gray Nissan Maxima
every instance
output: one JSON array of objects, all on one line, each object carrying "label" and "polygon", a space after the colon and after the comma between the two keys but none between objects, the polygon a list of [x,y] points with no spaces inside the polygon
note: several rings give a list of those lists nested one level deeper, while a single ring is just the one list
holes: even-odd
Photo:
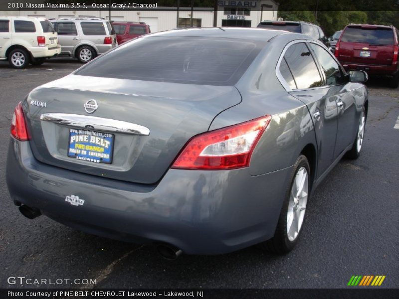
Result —
[{"label": "large red and clear right taillight of the gray Nissan Maxima", "polygon": [[249,166],[253,149],[271,120],[266,115],[249,122],[192,138],[172,165],[179,169],[233,169]]}]

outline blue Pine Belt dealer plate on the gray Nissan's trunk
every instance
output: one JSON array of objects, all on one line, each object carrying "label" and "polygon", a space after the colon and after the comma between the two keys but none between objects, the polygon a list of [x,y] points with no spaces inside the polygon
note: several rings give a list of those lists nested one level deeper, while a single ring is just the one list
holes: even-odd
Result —
[{"label": "blue Pine Belt dealer plate on the gray Nissan's trunk", "polygon": [[114,135],[82,129],[69,130],[68,156],[94,163],[112,163]]}]

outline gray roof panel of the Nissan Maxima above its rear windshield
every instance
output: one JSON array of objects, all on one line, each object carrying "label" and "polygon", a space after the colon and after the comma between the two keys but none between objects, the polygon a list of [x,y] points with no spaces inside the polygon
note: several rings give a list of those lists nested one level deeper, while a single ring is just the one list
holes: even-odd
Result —
[{"label": "gray roof panel of the Nissan Maxima above its rear windshield", "polygon": [[157,32],[146,35],[154,36],[187,36],[187,37],[224,37],[267,41],[277,35],[287,34],[282,30],[264,28],[242,28],[242,27],[201,27],[201,28],[177,28],[168,31]]}]

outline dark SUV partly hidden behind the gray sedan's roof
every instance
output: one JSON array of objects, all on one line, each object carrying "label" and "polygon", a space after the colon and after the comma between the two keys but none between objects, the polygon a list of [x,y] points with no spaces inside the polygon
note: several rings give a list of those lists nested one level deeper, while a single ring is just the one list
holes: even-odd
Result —
[{"label": "dark SUV partly hidden behind the gray sedan's roof", "polygon": [[263,21],[257,26],[258,28],[285,30],[295,33],[302,33],[318,39],[323,43],[327,43],[327,38],[323,30],[315,24],[303,21]]}]

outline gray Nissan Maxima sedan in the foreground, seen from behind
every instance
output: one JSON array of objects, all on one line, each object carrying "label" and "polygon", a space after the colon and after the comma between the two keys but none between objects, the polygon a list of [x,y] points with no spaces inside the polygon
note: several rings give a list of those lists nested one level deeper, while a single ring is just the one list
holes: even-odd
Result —
[{"label": "gray Nissan Maxima sedan in the foreground, seen from behind", "polygon": [[312,191],[360,154],[366,80],[298,33],[139,37],[18,104],[8,189],[29,218],[153,242],[171,259],[261,242],[286,253]]}]

